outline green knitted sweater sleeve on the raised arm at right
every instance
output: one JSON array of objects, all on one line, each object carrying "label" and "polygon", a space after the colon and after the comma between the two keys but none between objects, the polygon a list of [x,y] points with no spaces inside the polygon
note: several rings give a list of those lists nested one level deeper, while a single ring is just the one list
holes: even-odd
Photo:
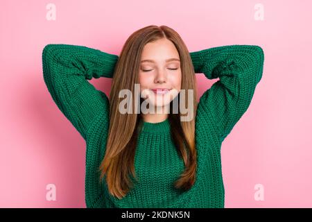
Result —
[{"label": "green knitted sweater sleeve on the raised arm at right", "polygon": [[223,142],[248,109],[263,72],[264,54],[260,46],[218,46],[190,53],[196,73],[219,78],[200,97],[199,106],[214,120]]}]

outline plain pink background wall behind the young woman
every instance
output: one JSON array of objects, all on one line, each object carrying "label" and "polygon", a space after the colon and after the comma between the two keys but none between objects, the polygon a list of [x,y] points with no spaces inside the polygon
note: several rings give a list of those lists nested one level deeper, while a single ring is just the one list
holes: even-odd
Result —
[{"label": "plain pink background wall behind the young woman", "polygon": [[[46,5],[56,20],[46,19]],[[254,19],[257,3],[264,20]],[[85,207],[85,142],[44,85],[46,44],[119,55],[150,24],[180,33],[189,51],[263,48],[254,99],[222,146],[225,207],[312,207],[311,1],[1,1],[0,207]],[[199,96],[214,80],[198,74]],[[91,80],[110,93],[111,80]],[[56,200],[46,200],[46,185]],[[254,186],[264,187],[255,200]]]}]

